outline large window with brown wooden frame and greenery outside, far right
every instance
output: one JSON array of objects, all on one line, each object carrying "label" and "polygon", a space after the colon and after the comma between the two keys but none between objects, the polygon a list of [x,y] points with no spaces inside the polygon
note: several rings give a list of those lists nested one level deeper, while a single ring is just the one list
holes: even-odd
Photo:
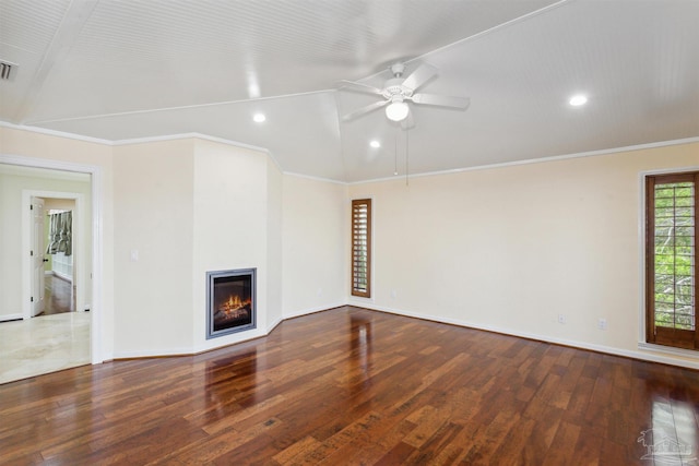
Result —
[{"label": "large window with brown wooden frame and greenery outside, far right", "polygon": [[697,200],[699,171],[645,179],[645,338],[699,349]]}]

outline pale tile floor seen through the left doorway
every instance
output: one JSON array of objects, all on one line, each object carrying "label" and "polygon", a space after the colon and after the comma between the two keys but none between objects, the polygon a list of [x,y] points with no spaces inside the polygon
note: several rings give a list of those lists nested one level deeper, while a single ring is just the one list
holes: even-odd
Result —
[{"label": "pale tile floor seen through the left doorway", "polygon": [[90,312],[0,322],[0,383],[90,361]]}]

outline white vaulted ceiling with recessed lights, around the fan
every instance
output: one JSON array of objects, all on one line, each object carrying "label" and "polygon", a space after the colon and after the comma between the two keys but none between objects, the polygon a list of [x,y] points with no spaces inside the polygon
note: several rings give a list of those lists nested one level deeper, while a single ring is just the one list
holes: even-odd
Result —
[{"label": "white vaulted ceiling with recessed lights, around the fan", "polygon": [[[699,136],[699,0],[0,0],[0,60],[1,121],[197,132],[348,182],[404,175],[406,148],[418,174]],[[471,107],[342,121],[374,97],[341,80],[382,87],[396,61]]]}]

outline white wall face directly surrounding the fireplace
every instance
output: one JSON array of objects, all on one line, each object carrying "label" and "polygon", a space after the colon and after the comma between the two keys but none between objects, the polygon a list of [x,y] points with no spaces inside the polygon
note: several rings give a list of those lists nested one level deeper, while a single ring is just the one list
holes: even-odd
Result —
[{"label": "white wall face directly surrounding the fireplace", "polygon": [[[281,320],[281,174],[263,152],[196,144],[191,328],[200,351],[265,335]],[[206,340],[206,272],[232,268],[257,268],[257,328]]]}]

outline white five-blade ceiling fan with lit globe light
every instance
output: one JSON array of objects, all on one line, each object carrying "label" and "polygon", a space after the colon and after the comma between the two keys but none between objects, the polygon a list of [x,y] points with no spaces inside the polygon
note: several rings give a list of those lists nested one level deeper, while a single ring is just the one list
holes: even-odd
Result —
[{"label": "white five-blade ceiling fan with lit globe light", "polygon": [[370,86],[355,81],[342,81],[343,87],[352,87],[356,92],[381,96],[381,100],[362,107],[342,117],[343,121],[353,120],[378,108],[386,107],[386,116],[391,121],[401,122],[403,129],[413,127],[408,101],[417,105],[431,105],[458,110],[469,108],[471,100],[467,97],[452,97],[438,94],[415,93],[420,86],[437,75],[437,69],[430,64],[422,63],[407,77],[403,79],[404,63],[391,65],[393,77],[388,80],[383,88]]}]

